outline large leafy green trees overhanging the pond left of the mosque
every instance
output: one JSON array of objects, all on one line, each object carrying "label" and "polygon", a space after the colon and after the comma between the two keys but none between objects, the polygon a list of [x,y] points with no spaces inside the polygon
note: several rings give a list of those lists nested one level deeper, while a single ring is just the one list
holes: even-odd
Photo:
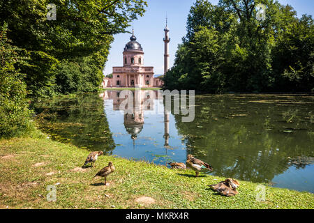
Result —
[{"label": "large leafy green trees overhanging the pond left of the mosque", "polygon": [[[57,20],[47,20],[49,3],[57,6]],[[63,75],[73,73],[64,72],[64,63],[80,66],[78,75],[93,86],[87,89],[99,86],[113,35],[126,32],[129,23],[143,15],[144,6],[147,3],[143,0],[10,0],[0,2],[0,17],[8,23],[13,44],[29,55],[29,66],[20,68],[27,74],[27,89],[39,96],[52,94],[54,89],[73,92],[66,86],[75,82],[64,86],[60,86],[63,82],[54,83],[56,79],[72,79],[55,77],[60,75],[60,66]],[[86,77],[86,70],[94,77]]]}]

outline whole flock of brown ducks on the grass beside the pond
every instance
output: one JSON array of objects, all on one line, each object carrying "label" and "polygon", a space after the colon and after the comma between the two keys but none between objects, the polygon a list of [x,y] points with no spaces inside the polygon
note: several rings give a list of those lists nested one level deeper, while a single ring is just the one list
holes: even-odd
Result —
[{"label": "whole flock of brown ducks on the grass beside the pond", "polygon": [[[103,151],[89,153],[87,159],[85,160],[84,167],[86,167],[89,163],[91,164],[91,167],[94,167],[94,163],[100,155],[103,155]],[[186,164],[184,164],[183,162],[170,162],[169,164],[171,166],[171,169],[193,169],[195,171],[195,177],[199,176],[200,172],[206,173],[208,171],[213,171],[213,167],[211,167],[211,165],[195,158],[193,155],[190,154],[188,155]],[[108,166],[101,169],[94,177],[100,176],[105,178],[105,185],[107,185],[107,176],[112,174],[114,171],[114,164],[112,162],[109,162]],[[219,194],[230,197],[239,193],[237,192],[237,187],[239,187],[239,185],[240,184],[237,180],[227,178],[219,183],[209,185],[209,187],[211,188],[211,190],[214,190]]]}]

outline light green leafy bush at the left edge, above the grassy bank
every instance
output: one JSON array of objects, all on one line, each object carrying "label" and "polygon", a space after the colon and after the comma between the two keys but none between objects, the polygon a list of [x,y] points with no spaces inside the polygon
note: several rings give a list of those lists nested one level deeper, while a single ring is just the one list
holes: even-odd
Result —
[{"label": "light green leafy bush at the left edge, above the grassy bank", "polygon": [[19,49],[10,44],[7,30],[5,23],[0,33],[0,138],[20,136],[33,126],[24,75],[15,68],[24,59],[18,55]]}]

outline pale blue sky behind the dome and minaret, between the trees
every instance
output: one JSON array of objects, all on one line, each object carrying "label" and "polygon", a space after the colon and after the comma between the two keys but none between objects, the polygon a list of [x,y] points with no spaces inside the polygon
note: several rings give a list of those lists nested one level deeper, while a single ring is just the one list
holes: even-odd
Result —
[{"label": "pale blue sky behind the dome and minaret, between the trees", "polygon": [[[186,19],[190,6],[195,0],[147,0],[147,12],[143,17],[133,22],[137,41],[144,49],[144,66],[154,66],[156,75],[163,74],[163,36],[165,28],[165,16],[167,13],[168,27],[170,29],[170,67],[173,66],[175,53],[181,39],[186,35]],[[313,15],[314,0],[279,0],[282,4],[290,4],[297,15]],[[211,0],[217,4],[218,0]],[[132,31],[132,27],[130,27]],[[110,55],[105,65],[104,75],[112,72],[113,66],[122,66],[122,52],[124,46],[130,40],[129,33],[121,33],[114,36]]]}]

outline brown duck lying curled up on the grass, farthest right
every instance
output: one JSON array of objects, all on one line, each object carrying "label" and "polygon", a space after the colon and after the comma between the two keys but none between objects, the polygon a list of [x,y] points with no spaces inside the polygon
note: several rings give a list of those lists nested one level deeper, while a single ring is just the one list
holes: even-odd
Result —
[{"label": "brown duck lying curled up on the grass, farthest right", "polygon": [[238,180],[227,178],[219,183],[209,185],[209,187],[211,188],[211,190],[214,190],[223,196],[232,197],[239,194],[239,192],[237,191],[237,187],[239,187],[239,185],[240,183],[238,182]]}]

